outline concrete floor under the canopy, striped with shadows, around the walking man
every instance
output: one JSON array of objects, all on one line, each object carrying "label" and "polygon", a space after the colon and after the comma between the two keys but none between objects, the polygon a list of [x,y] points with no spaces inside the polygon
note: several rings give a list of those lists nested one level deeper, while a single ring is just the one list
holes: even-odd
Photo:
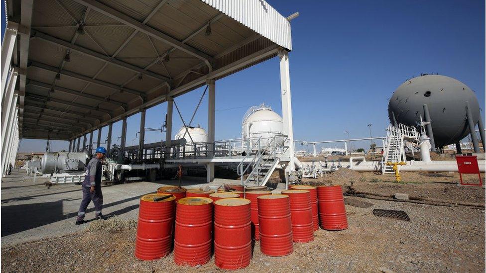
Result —
[{"label": "concrete floor under the canopy, striped with shadows, around the walking man", "polygon": [[[24,180],[23,170],[14,170],[1,180],[1,246],[18,244],[36,239],[60,236],[85,229],[89,223],[76,226],[76,216],[81,203],[81,185],[57,184],[49,189],[43,182]],[[217,188],[223,182],[234,180],[215,179],[210,186]],[[122,219],[136,219],[140,196],[154,192],[162,185],[178,181],[132,182],[104,186],[103,214]],[[201,186],[201,181],[183,179],[188,188]],[[88,206],[85,220],[95,217],[93,203]]]}]

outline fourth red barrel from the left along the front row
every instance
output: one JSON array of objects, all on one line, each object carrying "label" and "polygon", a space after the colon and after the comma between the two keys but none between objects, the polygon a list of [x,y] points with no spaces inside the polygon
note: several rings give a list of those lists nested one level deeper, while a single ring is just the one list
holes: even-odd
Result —
[{"label": "fourth red barrel from the left along the front row", "polygon": [[261,253],[268,256],[289,255],[294,251],[289,196],[265,194],[256,200]]}]

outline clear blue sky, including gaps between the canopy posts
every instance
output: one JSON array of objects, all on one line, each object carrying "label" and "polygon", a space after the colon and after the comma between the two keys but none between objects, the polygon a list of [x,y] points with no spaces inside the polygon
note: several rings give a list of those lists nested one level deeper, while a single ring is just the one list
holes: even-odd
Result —
[{"label": "clear blue sky, including gaps between the canopy posts", "polygon": [[[346,139],[344,131],[350,138],[368,137],[367,124],[372,124],[373,137],[385,136],[388,99],[406,79],[421,73],[465,83],[476,92],[485,118],[484,0],[268,2],[284,16],[300,13],[291,21],[289,54],[294,139]],[[185,120],[203,90],[175,98]],[[243,114],[252,105],[265,103],[281,114],[279,94],[278,58],[217,81],[216,139],[240,137]],[[193,125],[207,128],[207,108],[206,93]],[[165,113],[165,103],[148,109],[145,126],[160,128]],[[138,143],[139,115],[128,118],[127,146]],[[173,135],[181,125],[174,108]],[[117,143],[121,127],[121,122],[114,124],[112,143]],[[107,133],[103,128],[102,143]],[[146,143],[165,138],[161,132],[145,135]],[[19,150],[43,151],[45,143],[24,139]],[[51,141],[50,147],[58,151],[68,144]],[[368,148],[369,141],[355,143],[360,147]],[[297,145],[297,150],[306,149]]]}]

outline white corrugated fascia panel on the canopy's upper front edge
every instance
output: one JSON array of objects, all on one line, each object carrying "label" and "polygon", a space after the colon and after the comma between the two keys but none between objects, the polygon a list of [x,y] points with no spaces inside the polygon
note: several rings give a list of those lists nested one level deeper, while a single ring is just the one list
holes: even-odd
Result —
[{"label": "white corrugated fascia panel on the canopy's upper front edge", "polygon": [[292,50],[290,23],[265,0],[201,0],[270,41]]}]

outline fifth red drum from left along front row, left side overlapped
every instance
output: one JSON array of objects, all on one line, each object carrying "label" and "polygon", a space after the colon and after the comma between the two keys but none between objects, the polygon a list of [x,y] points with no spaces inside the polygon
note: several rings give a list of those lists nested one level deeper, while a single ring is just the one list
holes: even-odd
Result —
[{"label": "fifth red drum from left along front row, left side overlapped", "polygon": [[292,239],[297,243],[314,240],[311,193],[303,189],[283,190],[290,196],[290,216],[292,217]]}]

